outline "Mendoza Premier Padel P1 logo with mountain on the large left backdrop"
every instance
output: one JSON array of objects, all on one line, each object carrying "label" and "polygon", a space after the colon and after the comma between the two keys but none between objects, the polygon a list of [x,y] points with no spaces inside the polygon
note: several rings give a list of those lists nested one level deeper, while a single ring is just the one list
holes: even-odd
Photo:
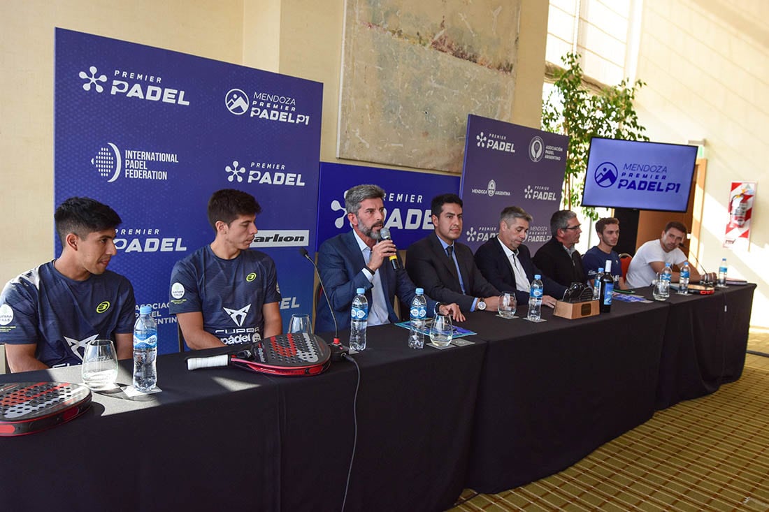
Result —
[{"label": "Mendoza Premier Padel P1 logo with mountain on the large left backdrop", "polygon": [[225,95],[225,107],[233,115],[263,121],[310,125],[310,115],[297,111],[296,98],[281,91],[254,91],[249,97],[243,89],[231,88]]}]

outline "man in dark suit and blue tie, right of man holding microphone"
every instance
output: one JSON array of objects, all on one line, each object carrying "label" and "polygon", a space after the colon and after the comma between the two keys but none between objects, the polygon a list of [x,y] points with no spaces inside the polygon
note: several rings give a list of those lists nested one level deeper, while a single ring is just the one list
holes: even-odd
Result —
[{"label": "man in dark suit and blue tie, right of man holding microphone", "polygon": [[470,248],[457,241],[462,234],[461,198],[441,194],[431,208],[435,231],[406,251],[411,281],[436,301],[456,302],[462,311],[497,311],[498,289],[475,266]]}]

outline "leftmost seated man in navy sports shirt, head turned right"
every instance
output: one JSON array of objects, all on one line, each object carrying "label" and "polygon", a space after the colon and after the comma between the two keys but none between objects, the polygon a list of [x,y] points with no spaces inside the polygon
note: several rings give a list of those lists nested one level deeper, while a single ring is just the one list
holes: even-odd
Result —
[{"label": "leftmost seated man in navy sports shirt, head turned right", "polygon": [[69,198],[54,215],[62,254],[8,281],[0,294],[0,343],[11,371],[81,364],[85,343],[109,338],[132,357],[134,289],[108,271],[120,216],[89,198]]}]

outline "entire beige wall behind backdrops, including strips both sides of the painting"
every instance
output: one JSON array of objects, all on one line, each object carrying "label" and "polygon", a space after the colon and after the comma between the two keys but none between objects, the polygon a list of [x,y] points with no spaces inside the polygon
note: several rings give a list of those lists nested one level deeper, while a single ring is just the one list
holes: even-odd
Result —
[{"label": "entire beige wall behind backdrops, including strips both sides of the painting", "polygon": [[[0,281],[53,255],[54,27],[321,81],[321,160],[337,161],[344,5],[344,0],[0,0]],[[510,120],[521,125],[539,125],[547,16],[547,2],[524,0]]]}]

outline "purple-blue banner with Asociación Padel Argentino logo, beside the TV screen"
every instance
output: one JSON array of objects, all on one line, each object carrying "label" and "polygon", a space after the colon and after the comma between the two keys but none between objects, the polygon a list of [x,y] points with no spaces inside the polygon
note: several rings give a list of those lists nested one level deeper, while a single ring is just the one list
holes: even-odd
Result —
[{"label": "purple-blue banner with Asociaci\u00f3n Padel Argentino logo, beside the TV screen", "polygon": [[520,206],[534,216],[524,242],[531,254],[550,240],[561,205],[568,137],[468,115],[461,197],[464,240],[473,251],[499,231],[499,214]]}]

